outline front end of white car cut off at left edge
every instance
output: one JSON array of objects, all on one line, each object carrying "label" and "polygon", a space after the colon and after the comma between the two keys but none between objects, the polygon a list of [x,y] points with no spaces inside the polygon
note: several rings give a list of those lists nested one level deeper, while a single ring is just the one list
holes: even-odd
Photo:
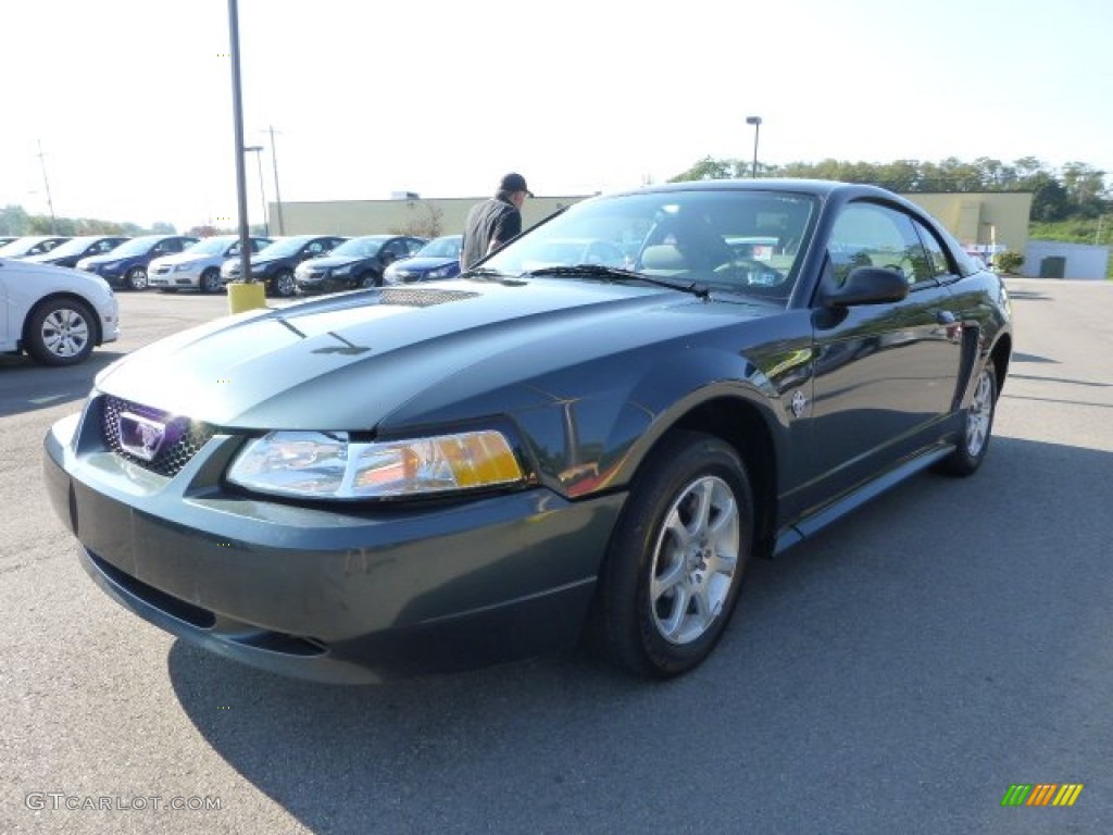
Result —
[{"label": "front end of white car cut off at left edge", "polygon": [[119,336],[119,305],[99,275],[0,258],[0,353],[76,365]]}]

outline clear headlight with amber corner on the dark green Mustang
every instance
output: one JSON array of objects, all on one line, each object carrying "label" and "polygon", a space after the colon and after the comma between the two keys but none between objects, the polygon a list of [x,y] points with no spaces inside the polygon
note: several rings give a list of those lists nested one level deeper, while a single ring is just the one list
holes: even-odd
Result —
[{"label": "clear headlight with amber corner on the dark green Mustang", "polygon": [[355,442],[346,432],[270,432],[247,444],[228,480],[316,499],[384,499],[513,484],[524,475],[494,430]]}]

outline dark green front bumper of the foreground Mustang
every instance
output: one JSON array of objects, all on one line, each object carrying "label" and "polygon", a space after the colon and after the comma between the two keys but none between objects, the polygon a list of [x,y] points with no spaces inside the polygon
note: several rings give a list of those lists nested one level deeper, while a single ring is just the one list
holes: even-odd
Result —
[{"label": "dark green front bumper of the foreground Mustang", "polygon": [[623,501],[273,502],[224,489],[238,438],[213,436],[167,478],[108,449],[93,412],[55,424],[43,454],[89,574],[174,635],[299,678],[371,682],[572,646]]}]

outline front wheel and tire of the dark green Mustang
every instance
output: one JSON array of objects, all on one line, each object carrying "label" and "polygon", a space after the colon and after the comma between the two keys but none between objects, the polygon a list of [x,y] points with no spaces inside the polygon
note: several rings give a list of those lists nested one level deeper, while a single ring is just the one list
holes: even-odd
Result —
[{"label": "front wheel and tire of the dark green Mustang", "polygon": [[631,483],[591,642],[634,675],[687,672],[722,637],[752,552],[754,500],[738,453],[711,435],[672,433]]}]

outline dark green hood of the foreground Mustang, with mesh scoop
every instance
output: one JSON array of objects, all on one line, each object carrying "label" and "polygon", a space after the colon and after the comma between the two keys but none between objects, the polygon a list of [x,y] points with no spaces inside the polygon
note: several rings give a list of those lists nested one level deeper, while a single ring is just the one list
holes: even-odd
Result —
[{"label": "dark green hood of the foreground Mustang, with mesh scoop", "polygon": [[[540,395],[528,381],[705,330],[707,306],[676,291],[568,279],[385,287],[185,331],[106,369],[97,387],[229,429],[384,429],[506,386],[529,407]],[[731,324],[751,310],[721,307]]]}]

